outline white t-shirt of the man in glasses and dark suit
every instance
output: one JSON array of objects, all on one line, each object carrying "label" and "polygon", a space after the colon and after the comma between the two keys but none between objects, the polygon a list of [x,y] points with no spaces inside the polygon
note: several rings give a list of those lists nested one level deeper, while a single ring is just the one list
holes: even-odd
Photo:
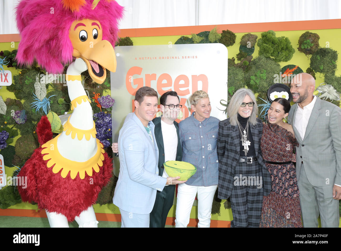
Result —
[{"label": "white t-shirt of the man in glasses and dark suit", "polygon": [[[176,127],[174,124],[168,125],[167,123],[161,120],[161,131],[163,138],[163,146],[165,149],[165,162],[175,161],[176,152],[178,149],[178,135],[176,133]],[[164,178],[168,177],[164,169],[162,177]]]}]

